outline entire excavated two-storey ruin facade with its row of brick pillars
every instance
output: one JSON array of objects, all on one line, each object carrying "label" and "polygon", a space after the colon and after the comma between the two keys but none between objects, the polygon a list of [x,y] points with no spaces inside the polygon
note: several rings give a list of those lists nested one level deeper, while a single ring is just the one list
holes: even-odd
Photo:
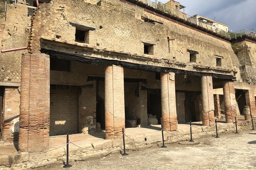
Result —
[{"label": "entire excavated two-storey ruin facade with its row of brick pillars", "polygon": [[253,37],[228,38],[147,1],[21,2],[0,2],[1,50],[28,47],[0,57],[1,140],[20,151],[67,133],[117,139],[127,127],[233,122],[244,106],[256,115]]}]

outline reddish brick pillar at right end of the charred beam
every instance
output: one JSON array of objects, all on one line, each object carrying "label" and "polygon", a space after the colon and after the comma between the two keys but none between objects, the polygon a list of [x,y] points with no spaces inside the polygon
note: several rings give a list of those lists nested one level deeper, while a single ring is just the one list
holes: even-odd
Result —
[{"label": "reddish brick pillar at right end of the charred beam", "polygon": [[236,117],[236,96],[234,82],[223,81],[224,108],[227,123],[235,121]]}]

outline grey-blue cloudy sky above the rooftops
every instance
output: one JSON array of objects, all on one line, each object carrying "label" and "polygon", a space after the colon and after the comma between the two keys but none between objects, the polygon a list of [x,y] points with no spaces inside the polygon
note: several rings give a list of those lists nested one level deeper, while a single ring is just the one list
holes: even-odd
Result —
[{"label": "grey-blue cloudy sky above the rooftops", "polygon": [[[159,0],[163,3],[169,0]],[[228,25],[229,30],[256,30],[256,0],[175,0],[187,14],[199,14]]]}]

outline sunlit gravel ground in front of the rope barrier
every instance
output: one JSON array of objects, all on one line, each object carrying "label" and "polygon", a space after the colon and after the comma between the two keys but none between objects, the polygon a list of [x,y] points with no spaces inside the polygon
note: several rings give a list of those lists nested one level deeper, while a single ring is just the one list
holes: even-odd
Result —
[{"label": "sunlit gravel ground in front of the rope barrier", "polygon": [[[90,161],[70,162],[69,170],[256,170],[256,131],[204,138],[199,144],[157,145],[128,156],[109,155]],[[150,147],[150,145],[148,145]],[[62,164],[33,170],[63,170]]]}]

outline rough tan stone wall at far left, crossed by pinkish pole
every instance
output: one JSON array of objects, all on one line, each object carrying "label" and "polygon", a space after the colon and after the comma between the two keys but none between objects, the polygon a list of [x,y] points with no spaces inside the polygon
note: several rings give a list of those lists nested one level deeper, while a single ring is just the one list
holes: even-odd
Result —
[{"label": "rough tan stone wall at far left, crossed by pinkish pole", "polygon": [[[0,2],[1,4],[4,1]],[[4,4],[2,5],[4,6]],[[7,15],[0,15],[0,47],[1,50],[28,46],[30,32],[30,17],[28,7],[25,5],[8,3]],[[21,54],[27,50],[1,53],[0,57],[0,81],[20,82]]]}]

